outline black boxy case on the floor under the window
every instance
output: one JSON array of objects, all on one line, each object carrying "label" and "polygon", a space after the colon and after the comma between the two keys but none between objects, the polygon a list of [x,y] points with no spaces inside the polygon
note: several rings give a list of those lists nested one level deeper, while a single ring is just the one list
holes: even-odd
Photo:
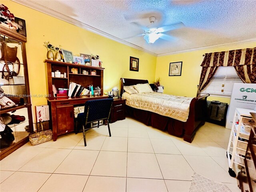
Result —
[{"label": "black boxy case on the floor under the window", "polygon": [[207,111],[207,122],[225,126],[228,111],[227,103],[222,103],[219,101],[207,101]]}]

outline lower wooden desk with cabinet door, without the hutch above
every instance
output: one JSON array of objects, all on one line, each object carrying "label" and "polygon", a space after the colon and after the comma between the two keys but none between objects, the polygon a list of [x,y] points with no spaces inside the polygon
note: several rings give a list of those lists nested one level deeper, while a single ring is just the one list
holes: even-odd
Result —
[{"label": "lower wooden desk with cabinet door, without the hutch above", "polygon": [[108,96],[90,95],[81,97],[47,97],[50,107],[50,125],[52,139],[57,140],[58,135],[74,131],[74,105],[84,104],[88,100],[106,99]]}]

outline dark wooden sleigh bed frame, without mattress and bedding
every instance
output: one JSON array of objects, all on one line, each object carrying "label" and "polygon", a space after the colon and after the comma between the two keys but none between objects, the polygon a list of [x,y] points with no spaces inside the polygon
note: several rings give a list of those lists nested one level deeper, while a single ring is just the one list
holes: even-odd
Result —
[{"label": "dark wooden sleigh bed frame, without mattress and bedding", "polygon": [[[132,86],[136,84],[148,83],[148,80],[120,78],[121,90],[120,95],[124,93],[124,86]],[[192,142],[196,134],[196,130],[205,123],[206,119],[206,101],[209,94],[192,98],[189,105],[189,114],[186,122],[162,116],[160,114],[133,108],[126,105],[126,115],[132,116],[140,122],[158,128],[163,131],[168,131],[170,134],[184,138],[184,141]]]}]

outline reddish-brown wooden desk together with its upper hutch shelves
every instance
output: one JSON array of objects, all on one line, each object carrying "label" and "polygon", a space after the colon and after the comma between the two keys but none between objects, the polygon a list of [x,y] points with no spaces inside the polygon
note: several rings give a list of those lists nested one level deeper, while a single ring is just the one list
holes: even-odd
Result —
[{"label": "reddish-brown wooden desk together with its upper hutch shelves", "polygon": [[[87,100],[102,99],[108,96],[101,95],[86,95],[76,97],[54,97],[52,85],[56,89],[68,89],[70,82],[80,84],[89,89],[89,85],[99,87],[103,93],[103,71],[104,68],[70,64],[66,62],[44,60],[46,63],[46,80],[48,82],[47,101],[50,107],[50,126],[52,128],[52,138],[57,140],[58,135],[74,131],[74,106],[83,105]],[[66,73],[66,78],[52,77],[52,72],[58,70],[61,74]],[[86,70],[88,74],[83,74]],[[76,71],[74,73],[74,71]],[[92,72],[96,72],[92,75]]]}]

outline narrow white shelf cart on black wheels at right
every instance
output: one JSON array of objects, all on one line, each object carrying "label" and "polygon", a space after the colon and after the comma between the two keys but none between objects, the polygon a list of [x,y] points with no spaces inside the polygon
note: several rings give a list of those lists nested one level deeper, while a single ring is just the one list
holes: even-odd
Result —
[{"label": "narrow white shelf cart on black wheels at right", "polygon": [[235,110],[227,149],[228,173],[232,177],[236,177],[236,173],[232,170],[234,163],[244,166],[244,157],[251,130],[249,122],[252,116],[250,112],[255,111],[244,108],[236,108]]}]

